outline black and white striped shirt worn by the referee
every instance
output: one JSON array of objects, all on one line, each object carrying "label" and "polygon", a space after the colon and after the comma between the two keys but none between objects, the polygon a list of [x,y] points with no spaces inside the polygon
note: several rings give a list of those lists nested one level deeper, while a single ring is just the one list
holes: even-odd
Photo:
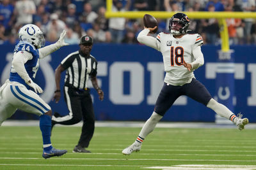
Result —
[{"label": "black and white striped shirt worn by the referee", "polygon": [[92,55],[84,57],[79,51],[65,57],[61,66],[67,69],[65,85],[72,85],[77,89],[87,88],[89,76],[97,75],[97,60]]}]

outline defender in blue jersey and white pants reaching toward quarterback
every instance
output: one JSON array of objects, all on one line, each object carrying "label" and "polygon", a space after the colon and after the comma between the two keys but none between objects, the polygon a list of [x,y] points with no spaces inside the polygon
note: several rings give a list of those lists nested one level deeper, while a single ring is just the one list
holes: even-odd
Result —
[{"label": "defender in blue jersey and white pants reaching toward quarterback", "polygon": [[61,156],[67,150],[57,150],[51,144],[51,107],[38,94],[43,90],[34,80],[42,59],[61,46],[68,45],[64,41],[64,30],[60,39],[41,48],[45,44],[43,32],[33,24],[27,24],[19,30],[19,43],[13,52],[10,78],[0,88],[0,125],[11,117],[17,109],[34,113],[40,117],[40,130],[43,137],[43,157],[45,159]]}]

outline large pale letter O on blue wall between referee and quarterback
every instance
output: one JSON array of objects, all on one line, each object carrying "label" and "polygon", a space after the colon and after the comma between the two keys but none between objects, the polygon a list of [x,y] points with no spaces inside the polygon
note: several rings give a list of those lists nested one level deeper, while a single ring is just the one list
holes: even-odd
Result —
[{"label": "large pale letter O on blue wall between referee and quarterback", "polygon": [[[124,94],[124,71],[130,73],[130,94]],[[113,104],[140,104],[144,99],[144,67],[140,62],[114,62],[109,68],[109,99]]]}]

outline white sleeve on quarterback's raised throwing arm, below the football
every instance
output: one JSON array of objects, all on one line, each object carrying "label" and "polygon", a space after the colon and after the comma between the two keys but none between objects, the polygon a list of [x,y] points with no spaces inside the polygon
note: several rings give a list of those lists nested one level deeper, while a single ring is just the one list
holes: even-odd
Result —
[{"label": "white sleeve on quarterback's raised throwing arm, below the football", "polygon": [[144,45],[150,46],[158,51],[160,51],[157,45],[157,39],[152,36],[147,36],[149,29],[143,29],[140,34],[138,34],[138,41]]}]

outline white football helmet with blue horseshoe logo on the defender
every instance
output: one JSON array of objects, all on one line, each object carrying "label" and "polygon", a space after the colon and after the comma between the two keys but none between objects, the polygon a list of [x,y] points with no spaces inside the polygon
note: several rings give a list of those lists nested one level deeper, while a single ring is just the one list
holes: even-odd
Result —
[{"label": "white football helmet with blue horseshoe logo on the defender", "polygon": [[18,36],[20,41],[27,41],[36,48],[41,48],[45,45],[44,33],[34,24],[27,24],[21,27]]}]

